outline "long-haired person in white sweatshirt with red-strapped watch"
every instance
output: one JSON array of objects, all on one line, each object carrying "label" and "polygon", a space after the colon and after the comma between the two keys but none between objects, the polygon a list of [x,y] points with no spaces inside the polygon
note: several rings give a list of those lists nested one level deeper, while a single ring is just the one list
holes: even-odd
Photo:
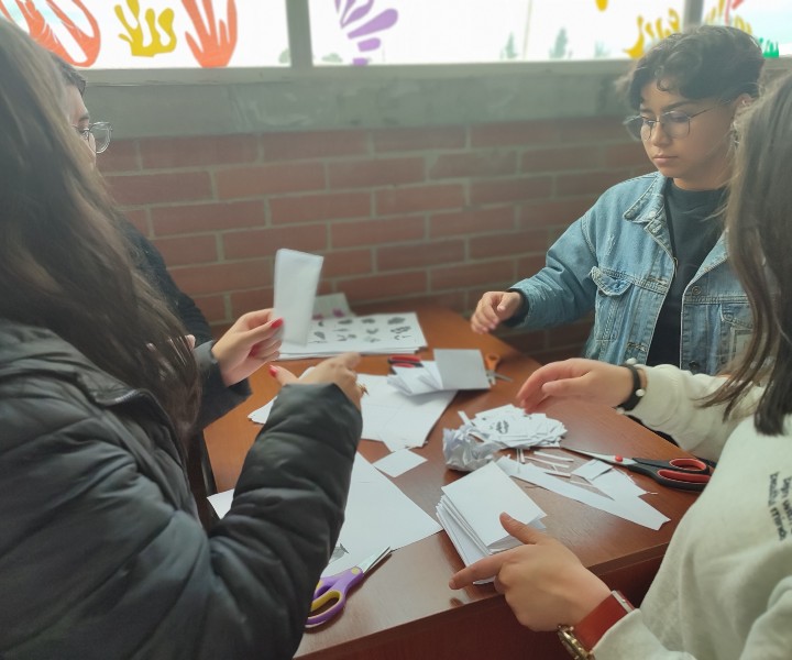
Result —
[{"label": "long-haired person in white sweatshirt with red-strapped watch", "polygon": [[562,543],[506,515],[525,544],[451,579],[460,588],[494,575],[518,620],[558,629],[576,658],[792,658],[792,76],[736,131],[726,232],[756,333],[728,374],[568,360],[539,369],[518,394],[528,411],[548,399],[627,408],[717,461],[640,608]]}]

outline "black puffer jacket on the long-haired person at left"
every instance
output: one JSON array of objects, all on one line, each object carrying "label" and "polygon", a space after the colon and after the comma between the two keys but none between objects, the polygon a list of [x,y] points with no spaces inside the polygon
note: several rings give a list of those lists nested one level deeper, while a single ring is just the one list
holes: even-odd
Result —
[{"label": "black puffer jacket on the long-haired person at left", "polygon": [[285,387],[207,537],[158,404],[0,319],[0,658],[290,658],[360,433]]}]

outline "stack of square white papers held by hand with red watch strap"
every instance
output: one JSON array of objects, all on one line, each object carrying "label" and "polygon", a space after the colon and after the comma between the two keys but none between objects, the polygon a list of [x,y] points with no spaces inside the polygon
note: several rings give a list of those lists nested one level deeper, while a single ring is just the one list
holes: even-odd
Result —
[{"label": "stack of square white papers held by hand with red watch strap", "polygon": [[501,525],[506,512],[522,522],[543,528],[536,503],[495,463],[442,488],[437,517],[465,565],[520,544]]}]

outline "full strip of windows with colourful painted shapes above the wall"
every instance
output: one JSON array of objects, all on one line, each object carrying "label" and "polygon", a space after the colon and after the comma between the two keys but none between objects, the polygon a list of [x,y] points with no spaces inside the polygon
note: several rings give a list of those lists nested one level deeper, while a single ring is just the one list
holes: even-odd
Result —
[{"label": "full strip of windows with colourful painted shapes above the wall", "polygon": [[626,59],[685,18],[792,54],[792,0],[0,0],[0,16],[96,69]]}]

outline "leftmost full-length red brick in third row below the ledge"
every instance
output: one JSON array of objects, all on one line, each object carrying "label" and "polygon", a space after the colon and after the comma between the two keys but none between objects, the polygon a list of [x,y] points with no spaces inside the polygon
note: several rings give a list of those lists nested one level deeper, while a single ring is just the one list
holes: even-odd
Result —
[{"label": "leftmost full-length red brick in third row below the ledge", "polygon": [[227,201],[151,209],[156,235],[218,231],[264,224],[264,202]]}]

